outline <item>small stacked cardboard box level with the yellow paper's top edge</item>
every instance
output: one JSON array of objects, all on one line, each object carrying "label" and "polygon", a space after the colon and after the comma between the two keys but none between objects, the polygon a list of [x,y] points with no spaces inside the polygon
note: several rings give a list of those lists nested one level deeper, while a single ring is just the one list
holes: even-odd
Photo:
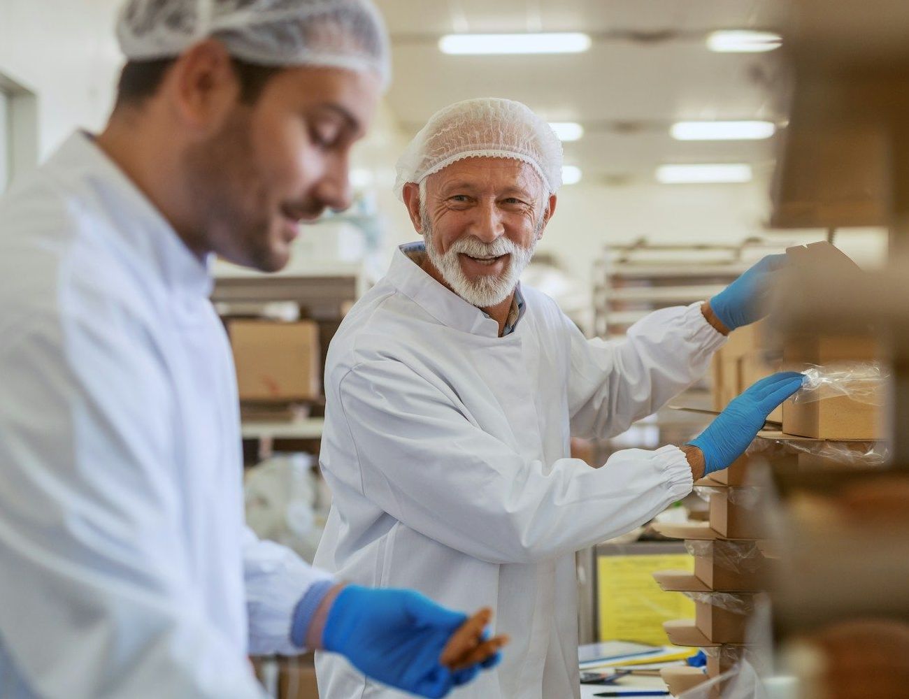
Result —
[{"label": "small stacked cardboard box level with the yellow paper's top edge", "polygon": [[766,586],[767,559],[749,541],[716,539],[694,556],[694,575],[717,592],[758,592]]}]

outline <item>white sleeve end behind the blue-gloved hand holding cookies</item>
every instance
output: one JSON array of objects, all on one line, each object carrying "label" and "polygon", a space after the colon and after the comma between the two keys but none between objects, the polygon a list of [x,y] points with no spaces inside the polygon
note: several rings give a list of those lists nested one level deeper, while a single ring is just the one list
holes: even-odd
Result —
[{"label": "white sleeve end behind the blue-gloved hand holding cookies", "polygon": [[290,629],[297,603],[310,585],[332,580],[289,548],[262,541],[245,527],[243,541],[249,652],[253,655],[300,654]]}]

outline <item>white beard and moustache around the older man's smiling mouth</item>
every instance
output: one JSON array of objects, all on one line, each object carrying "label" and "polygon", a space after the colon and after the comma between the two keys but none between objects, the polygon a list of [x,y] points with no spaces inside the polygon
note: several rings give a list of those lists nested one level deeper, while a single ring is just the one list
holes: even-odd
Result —
[{"label": "white beard and moustache around the older man's smiling mouth", "polygon": [[[464,236],[454,241],[445,254],[440,254],[433,244],[432,224],[428,216],[423,217],[423,234],[426,242],[426,254],[430,262],[451,286],[455,294],[459,295],[468,304],[477,308],[501,304],[508,295],[514,291],[518,279],[524,272],[536,250],[537,235],[534,233],[534,242],[530,247],[521,247],[507,238],[497,238],[492,243],[483,243],[472,235]],[[475,280],[468,279],[461,267],[458,255],[471,257],[498,257],[510,255],[506,267],[500,275],[484,275]]]}]

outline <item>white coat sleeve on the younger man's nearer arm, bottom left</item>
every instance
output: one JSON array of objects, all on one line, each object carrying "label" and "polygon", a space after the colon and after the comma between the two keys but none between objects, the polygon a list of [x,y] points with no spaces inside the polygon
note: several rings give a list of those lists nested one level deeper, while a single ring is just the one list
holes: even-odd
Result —
[{"label": "white coat sleeve on the younger man's nearer arm, bottom left", "polygon": [[264,697],[200,610],[162,360],[101,296],[0,338],[3,655],[40,696]]}]

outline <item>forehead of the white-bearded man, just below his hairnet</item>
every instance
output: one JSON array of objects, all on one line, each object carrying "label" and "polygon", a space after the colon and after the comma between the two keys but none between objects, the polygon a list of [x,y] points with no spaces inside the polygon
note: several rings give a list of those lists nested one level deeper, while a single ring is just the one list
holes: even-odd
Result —
[{"label": "forehead of the white-bearded man, just below his hairnet", "polygon": [[425,183],[427,190],[440,194],[454,190],[477,195],[518,192],[534,198],[544,194],[536,168],[516,157],[466,157],[428,175]]}]

